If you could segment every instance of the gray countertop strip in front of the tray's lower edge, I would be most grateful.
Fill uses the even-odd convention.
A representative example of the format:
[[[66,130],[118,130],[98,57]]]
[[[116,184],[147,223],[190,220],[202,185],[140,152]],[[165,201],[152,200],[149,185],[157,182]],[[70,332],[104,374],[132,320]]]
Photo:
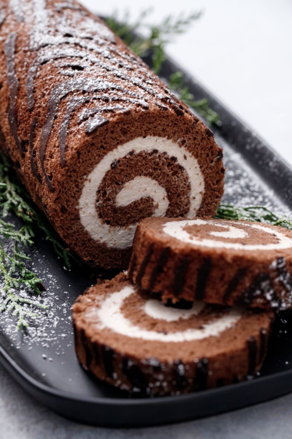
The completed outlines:
[[[28,396],[0,366],[0,438],[190,439],[292,437],[292,395],[219,416],[151,428],[100,428],[63,419]]]

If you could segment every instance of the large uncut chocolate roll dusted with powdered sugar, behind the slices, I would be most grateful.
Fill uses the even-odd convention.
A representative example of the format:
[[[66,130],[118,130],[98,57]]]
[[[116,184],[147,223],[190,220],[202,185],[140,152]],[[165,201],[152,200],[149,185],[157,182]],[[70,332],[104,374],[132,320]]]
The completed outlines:
[[[3,0],[0,145],[68,246],[126,266],[139,220],[213,215],[212,132],[75,1]]]

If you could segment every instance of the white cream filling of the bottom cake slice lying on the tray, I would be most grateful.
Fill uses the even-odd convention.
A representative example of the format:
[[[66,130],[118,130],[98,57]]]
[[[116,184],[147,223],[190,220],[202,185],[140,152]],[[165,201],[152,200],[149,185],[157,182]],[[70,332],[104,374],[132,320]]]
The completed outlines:
[[[155,330],[146,330],[134,325],[129,319],[121,313],[123,301],[135,292],[133,286],[126,286],[121,291],[108,296],[100,308],[96,311],[96,324],[99,329],[108,328],[111,331],[134,339],[143,339],[151,341],[164,342],[183,342],[192,340],[201,340],[211,336],[219,336],[226,329],[234,326],[241,318],[241,312],[237,309],[229,310],[223,317],[214,319],[209,323],[202,325],[201,329],[186,329],[185,331],[169,332],[167,334]],[[150,305],[148,302],[151,302]],[[143,310],[150,317],[155,319],[163,319],[166,321],[177,321],[179,319],[187,319],[192,315],[197,315],[205,306],[201,302],[195,303],[190,310],[169,310],[158,301],[157,305],[153,304],[153,300],[146,301]],[[92,313],[92,311],[91,311]],[[92,321],[92,315],[90,320]]]

